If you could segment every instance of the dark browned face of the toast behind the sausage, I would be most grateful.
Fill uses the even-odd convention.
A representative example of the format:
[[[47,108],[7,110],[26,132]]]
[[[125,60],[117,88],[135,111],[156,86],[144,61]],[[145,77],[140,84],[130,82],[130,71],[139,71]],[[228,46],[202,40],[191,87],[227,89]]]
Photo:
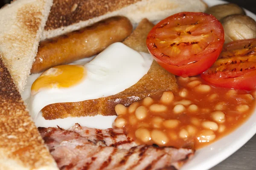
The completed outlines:
[[[70,26],[139,1],[141,0],[54,0],[44,29],[48,31]]]

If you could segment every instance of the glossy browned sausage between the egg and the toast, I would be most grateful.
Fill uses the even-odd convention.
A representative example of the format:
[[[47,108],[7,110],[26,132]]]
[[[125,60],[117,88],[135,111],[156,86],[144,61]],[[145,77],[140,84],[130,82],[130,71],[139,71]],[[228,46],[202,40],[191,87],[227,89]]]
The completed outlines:
[[[131,34],[126,17],[111,17],[59,37],[40,42],[31,73],[40,73],[57,65],[100,53],[114,42],[122,42]]]

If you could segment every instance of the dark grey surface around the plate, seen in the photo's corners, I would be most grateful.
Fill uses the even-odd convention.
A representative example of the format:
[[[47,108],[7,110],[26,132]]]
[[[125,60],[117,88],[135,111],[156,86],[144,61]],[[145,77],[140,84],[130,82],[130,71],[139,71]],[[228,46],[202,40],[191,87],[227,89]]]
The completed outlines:
[[[256,0],[226,0],[256,14]],[[0,0],[0,6],[10,0]],[[256,170],[256,135],[244,144],[236,153],[210,170]]]

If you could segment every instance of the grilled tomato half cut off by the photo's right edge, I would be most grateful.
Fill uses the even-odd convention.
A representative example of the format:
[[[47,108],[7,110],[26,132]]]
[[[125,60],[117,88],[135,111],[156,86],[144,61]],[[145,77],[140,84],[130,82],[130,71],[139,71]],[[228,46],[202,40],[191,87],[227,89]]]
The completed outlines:
[[[225,44],[217,61],[201,77],[225,88],[256,89],[256,39]]]

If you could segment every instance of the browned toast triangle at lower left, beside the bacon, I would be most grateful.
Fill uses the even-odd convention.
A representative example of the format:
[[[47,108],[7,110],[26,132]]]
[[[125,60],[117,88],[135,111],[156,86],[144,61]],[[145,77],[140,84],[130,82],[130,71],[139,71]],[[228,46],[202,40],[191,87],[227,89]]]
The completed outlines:
[[[58,170],[0,56],[0,170]]]

